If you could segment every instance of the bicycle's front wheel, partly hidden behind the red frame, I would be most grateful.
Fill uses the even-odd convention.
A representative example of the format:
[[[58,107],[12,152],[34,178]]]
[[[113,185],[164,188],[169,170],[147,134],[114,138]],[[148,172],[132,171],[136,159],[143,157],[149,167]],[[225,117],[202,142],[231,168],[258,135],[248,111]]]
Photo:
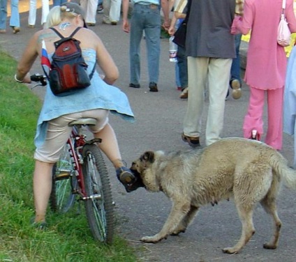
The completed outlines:
[[[54,212],[66,213],[75,202],[73,189],[77,187],[77,179],[73,169],[68,144],[64,146],[59,161],[52,169],[52,192],[50,208]]]

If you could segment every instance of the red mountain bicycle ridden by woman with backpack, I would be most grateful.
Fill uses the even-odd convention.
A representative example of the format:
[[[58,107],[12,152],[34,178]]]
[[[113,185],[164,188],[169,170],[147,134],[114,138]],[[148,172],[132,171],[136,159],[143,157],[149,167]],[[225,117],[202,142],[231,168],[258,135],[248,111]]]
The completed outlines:
[[[31,81],[46,85],[43,75],[31,75]],[[35,87],[34,86],[34,87]],[[34,88],[33,87],[33,88]],[[112,243],[114,203],[108,170],[101,150],[101,139],[87,140],[82,128],[96,125],[94,118],[81,118],[69,124],[72,132],[57,163],[52,169],[50,208],[66,213],[75,201],[84,202],[87,221],[94,239]]]

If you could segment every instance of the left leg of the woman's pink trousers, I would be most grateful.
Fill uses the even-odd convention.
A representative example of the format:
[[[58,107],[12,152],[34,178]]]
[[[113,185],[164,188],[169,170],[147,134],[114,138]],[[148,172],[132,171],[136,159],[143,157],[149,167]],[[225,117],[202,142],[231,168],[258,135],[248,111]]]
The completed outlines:
[[[257,130],[258,134],[263,133],[263,106],[265,91],[250,86],[249,107],[244,117],[244,137],[250,138],[252,130]]]

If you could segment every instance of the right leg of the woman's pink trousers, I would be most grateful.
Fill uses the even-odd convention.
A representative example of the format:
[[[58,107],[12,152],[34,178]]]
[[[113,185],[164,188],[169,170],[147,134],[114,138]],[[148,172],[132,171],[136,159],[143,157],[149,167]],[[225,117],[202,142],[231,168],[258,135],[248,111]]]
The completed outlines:
[[[267,91],[268,129],[265,143],[281,150],[283,141],[283,88]]]

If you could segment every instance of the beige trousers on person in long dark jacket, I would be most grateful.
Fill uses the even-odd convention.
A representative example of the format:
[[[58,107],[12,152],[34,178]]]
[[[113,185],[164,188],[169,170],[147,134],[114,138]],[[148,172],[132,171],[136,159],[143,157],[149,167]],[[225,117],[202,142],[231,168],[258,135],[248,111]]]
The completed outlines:
[[[200,137],[205,91],[208,88],[209,110],[205,144],[209,146],[221,137],[225,97],[230,81],[232,59],[188,56],[188,105],[184,118],[184,134]]]

